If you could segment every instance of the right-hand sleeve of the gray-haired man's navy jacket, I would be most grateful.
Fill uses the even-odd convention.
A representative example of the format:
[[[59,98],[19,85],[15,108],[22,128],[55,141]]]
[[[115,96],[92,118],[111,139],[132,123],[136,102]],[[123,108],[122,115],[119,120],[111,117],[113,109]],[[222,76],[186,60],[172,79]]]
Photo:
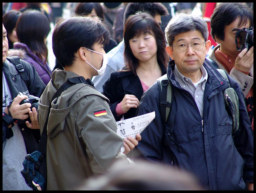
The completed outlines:
[[[239,98],[239,129],[233,134],[234,144],[244,160],[243,179],[253,183],[253,131],[241,87],[229,76],[230,85]]]

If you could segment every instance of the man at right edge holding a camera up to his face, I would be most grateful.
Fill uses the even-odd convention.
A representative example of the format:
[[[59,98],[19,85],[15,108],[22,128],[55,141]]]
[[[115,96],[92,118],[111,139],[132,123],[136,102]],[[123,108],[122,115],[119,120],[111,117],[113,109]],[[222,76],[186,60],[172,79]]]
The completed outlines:
[[[209,58],[241,86],[253,130],[253,10],[245,3],[221,3],[210,26],[219,44]]]

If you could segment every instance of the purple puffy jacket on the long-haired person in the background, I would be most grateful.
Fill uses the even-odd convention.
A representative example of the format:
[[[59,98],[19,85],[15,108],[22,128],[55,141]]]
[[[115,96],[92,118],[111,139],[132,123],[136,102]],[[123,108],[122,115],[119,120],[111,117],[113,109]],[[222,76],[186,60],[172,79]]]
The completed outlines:
[[[45,83],[45,85],[47,85],[48,82],[51,80],[51,74],[52,74],[52,71],[51,71],[48,63],[44,64],[38,58],[38,56],[36,56],[28,48],[28,46],[26,44],[24,44],[24,43],[16,42],[16,43],[13,44],[13,47],[14,47],[14,49],[22,49],[23,51],[26,52],[25,57],[21,58],[21,59],[23,59],[26,62],[28,62],[28,63],[32,64],[33,66],[35,66],[38,75],[40,76],[42,81]]]

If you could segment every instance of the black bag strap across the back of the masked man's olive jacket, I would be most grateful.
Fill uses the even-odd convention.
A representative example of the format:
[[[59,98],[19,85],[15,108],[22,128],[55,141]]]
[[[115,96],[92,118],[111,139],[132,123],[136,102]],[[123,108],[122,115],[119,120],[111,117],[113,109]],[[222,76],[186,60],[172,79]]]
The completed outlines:
[[[90,79],[87,79],[87,81],[89,81]],[[51,103],[52,101],[57,98],[64,90],[66,90],[67,88],[78,84],[78,83],[84,83],[84,84],[88,84],[84,77],[79,76],[79,77],[75,77],[75,78],[68,78],[68,81],[66,81],[54,94],[54,96],[51,99],[50,105],[49,105],[49,109],[48,109],[48,114],[46,117],[46,121],[45,121],[45,125],[44,125],[44,129],[42,131],[41,134],[41,138],[40,138],[40,142],[38,144],[38,151],[40,151],[43,155],[46,155],[46,145],[47,145],[47,124],[48,124],[48,120],[49,120],[49,115],[50,115],[50,111],[51,111]],[[88,84],[90,85],[90,83]]]

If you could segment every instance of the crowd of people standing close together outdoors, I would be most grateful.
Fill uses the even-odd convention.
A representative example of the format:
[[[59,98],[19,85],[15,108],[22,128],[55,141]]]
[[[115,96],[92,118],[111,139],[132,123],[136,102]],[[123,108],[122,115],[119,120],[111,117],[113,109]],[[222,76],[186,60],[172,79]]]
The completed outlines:
[[[46,120],[47,190],[253,190],[253,3],[209,4],[3,3],[3,190],[32,190],[20,171]],[[136,137],[117,134],[153,111]]]

